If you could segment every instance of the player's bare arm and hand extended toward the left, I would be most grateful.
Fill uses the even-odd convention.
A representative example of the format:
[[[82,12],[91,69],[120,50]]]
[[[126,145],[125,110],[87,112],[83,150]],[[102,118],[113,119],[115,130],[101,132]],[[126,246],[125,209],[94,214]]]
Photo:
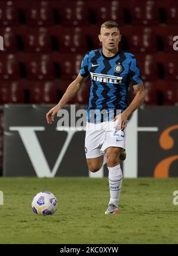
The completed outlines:
[[[82,83],[84,83],[86,79],[87,77],[82,77],[80,74],[78,74],[77,78],[66,89],[66,92],[62,96],[62,99],[59,101],[59,103],[55,107],[51,108],[46,114],[46,120],[48,124],[51,124],[52,121],[54,121],[55,114],[61,110],[63,105],[74,98],[74,96],[81,89]]]

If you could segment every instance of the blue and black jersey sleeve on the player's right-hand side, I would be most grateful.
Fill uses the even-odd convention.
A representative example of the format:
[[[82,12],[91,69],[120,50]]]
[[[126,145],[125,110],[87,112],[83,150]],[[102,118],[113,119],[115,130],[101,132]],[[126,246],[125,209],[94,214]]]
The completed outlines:
[[[131,60],[132,61],[129,67],[129,78],[132,85],[138,85],[139,83],[142,83],[140,68],[135,56],[132,56]]]

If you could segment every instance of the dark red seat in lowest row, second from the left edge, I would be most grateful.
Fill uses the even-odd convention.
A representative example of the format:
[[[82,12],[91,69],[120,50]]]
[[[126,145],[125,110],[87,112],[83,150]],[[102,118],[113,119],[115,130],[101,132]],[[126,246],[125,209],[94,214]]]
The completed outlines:
[[[55,83],[52,81],[46,82],[31,82],[30,89],[31,104],[56,104],[57,93]]]

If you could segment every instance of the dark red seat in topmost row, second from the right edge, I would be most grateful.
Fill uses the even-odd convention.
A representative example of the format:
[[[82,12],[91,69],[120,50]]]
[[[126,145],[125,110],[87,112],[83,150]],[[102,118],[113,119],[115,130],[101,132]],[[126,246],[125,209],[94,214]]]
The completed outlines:
[[[131,0],[129,6],[132,17],[132,24],[158,24],[159,12],[155,1]]]

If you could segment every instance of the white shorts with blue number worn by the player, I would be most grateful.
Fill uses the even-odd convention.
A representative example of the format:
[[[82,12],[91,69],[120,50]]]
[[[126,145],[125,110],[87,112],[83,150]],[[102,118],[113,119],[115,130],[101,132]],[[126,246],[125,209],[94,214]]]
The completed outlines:
[[[103,123],[87,123],[85,135],[86,158],[104,155],[109,146],[125,149],[126,129],[116,130],[116,121]]]

